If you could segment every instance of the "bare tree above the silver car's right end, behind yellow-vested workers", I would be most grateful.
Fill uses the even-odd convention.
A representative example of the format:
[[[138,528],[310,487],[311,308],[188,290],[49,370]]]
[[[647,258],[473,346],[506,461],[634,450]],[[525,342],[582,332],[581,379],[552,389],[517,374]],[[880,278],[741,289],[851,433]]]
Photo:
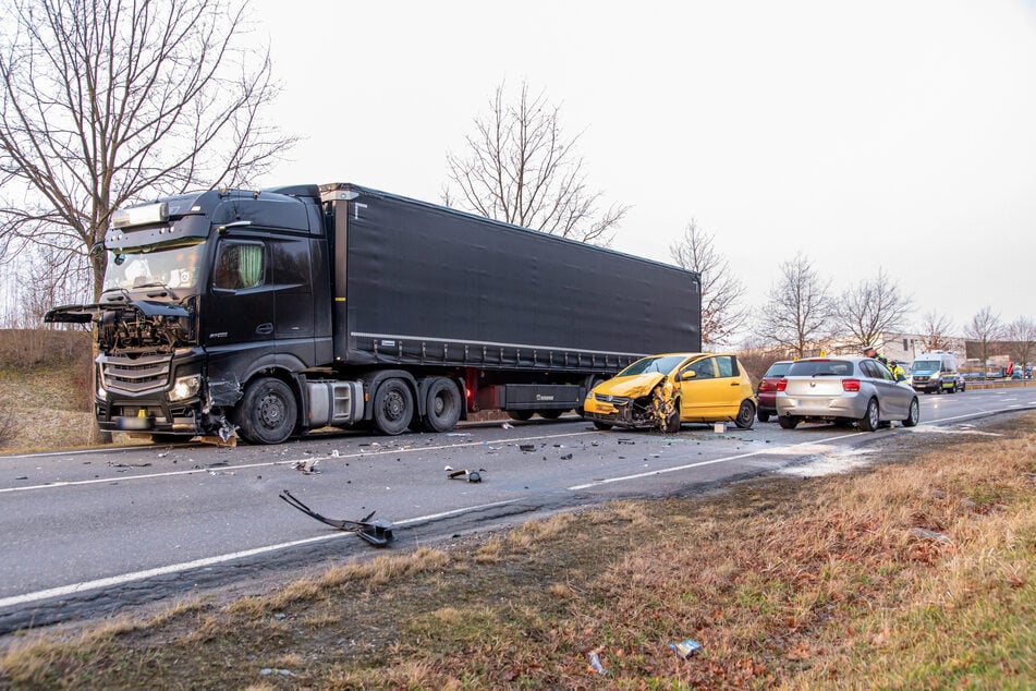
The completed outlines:
[[[912,308],[913,300],[900,291],[883,269],[878,269],[876,277],[862,280],[841,294],[836,324],[840,332],[856,341],[855,346],[877,346],[885,334],[902,331]]]

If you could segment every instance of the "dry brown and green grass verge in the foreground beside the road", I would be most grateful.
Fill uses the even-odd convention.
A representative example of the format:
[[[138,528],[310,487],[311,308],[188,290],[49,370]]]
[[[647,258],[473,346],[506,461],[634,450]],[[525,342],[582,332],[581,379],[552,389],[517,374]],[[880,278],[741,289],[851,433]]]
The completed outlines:
[[[16,644],[0,687],[1028,687],[1036,415],[1014,420],[994,440],[901,436],[853,476],[617,502]],[[703,645],[687,660],[668,648],[685,638]]]

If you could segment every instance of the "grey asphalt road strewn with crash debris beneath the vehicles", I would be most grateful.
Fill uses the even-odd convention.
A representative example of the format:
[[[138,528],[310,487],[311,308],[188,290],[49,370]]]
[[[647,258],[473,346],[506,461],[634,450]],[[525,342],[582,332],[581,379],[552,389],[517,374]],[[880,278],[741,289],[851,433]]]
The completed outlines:
[[[685,495],[746,476],[852,462],[901,434],[968,432],[1036,409],[1036,389],[922,396],[922,424],[858,433],[598,432],[576,417],[449,434],[343,433],[276,446],[145,446],[0,457],[0,633],[222,587],[376,549],[282,501],[391,521],[391,549],[615,498]],[[316,462],[316,472],[298,464]],[[447,477],[477,471],[480,483]]]

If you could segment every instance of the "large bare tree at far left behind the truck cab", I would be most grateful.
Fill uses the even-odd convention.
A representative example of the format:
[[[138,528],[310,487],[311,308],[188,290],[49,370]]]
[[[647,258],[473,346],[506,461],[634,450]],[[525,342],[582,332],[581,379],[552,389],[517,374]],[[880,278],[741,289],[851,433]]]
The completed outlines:
[[[127,201],[245,183],[293,143],[239,0],[13,0],[0,29],[0,250],[87,265]]]

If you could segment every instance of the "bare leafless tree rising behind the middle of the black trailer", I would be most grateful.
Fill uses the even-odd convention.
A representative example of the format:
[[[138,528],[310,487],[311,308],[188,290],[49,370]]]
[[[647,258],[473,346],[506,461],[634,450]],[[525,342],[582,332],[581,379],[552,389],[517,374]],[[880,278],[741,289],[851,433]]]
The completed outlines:
[[[447,154],[450,183],[442,201],[487,218],[563,238],[607,245],[629,206],[598,214],[600,192],[586,185],[578,136],[565,138],[560,108],[531,97],[523,82],[516,102],[501,83],[489,114],[475,118],[464,155]]]

